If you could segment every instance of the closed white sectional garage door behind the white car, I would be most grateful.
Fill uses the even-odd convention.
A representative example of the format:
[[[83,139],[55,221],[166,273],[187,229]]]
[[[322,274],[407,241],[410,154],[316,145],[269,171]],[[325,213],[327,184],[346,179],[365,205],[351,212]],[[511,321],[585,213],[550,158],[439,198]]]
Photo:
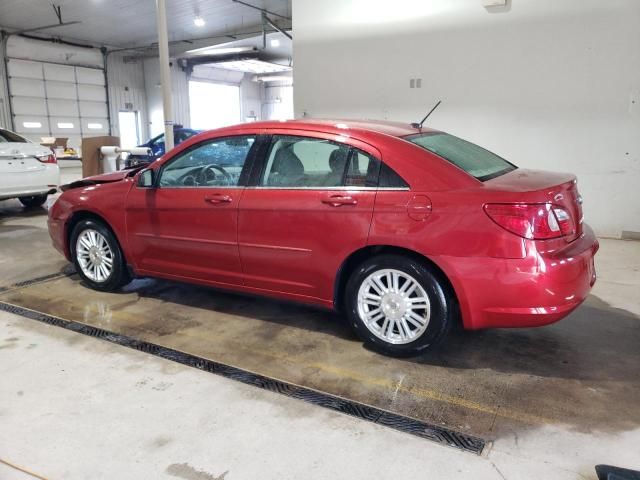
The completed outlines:
[[[16,132],[36,142],[47,136],[68,137],[74,147],[83,136],[109,133],[102,68],[11,58],[8,53]]]

